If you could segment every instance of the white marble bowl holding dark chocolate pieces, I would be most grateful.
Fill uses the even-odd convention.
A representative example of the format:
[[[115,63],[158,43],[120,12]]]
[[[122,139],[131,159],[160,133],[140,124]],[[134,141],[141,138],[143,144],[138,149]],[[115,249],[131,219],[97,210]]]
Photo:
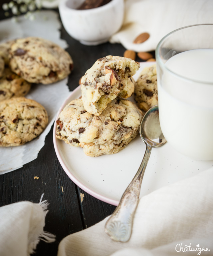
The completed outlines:
[[[87,10],[77,10],[84,0],[60,0],[59,13],[68,34],[82,44],[98,45],[107,42],[123,22],[123,0]]]

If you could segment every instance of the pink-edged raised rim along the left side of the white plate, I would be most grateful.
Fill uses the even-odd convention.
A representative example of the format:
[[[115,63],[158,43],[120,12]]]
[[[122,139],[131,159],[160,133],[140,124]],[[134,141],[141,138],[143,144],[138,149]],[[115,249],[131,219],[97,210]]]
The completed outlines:
[[[56,120],[58,119],[58,116],[59,114],[61,113],[61,111],[63,110],[63,108],[69,103],[69,99],[75,94],[77,93],[79,90],[80,90],[80,87],[81,85],[79,85],[70,95],[69,97],[64,101],[64,103],[62,104],[62,106],[60,107],[57,115],[56,115],[56,119],[55,119],[55,122]],[[56,155],[58,157],[58,160],[62,166],[62,168],[64,169],[64,171],[66,172],[66,174],[68,175],[68,177],[76,184],[78,185],[80,188],[82,188],[85,192],[87,192],[88,194],[94,196],[95,198],[101,200],[101,201],[104,201],[106,203],[109,203],[109,204],[112,204],[112,205],[115,205],[117,206],[118,205],[118,201],[117,200],[114,200],[114,199],[111,199],[111,198],[108,198],[106,196],[103,196],[99,193],[97,193],[96,191],[92,190],[91,188],[89,188],[88,186],[86,186],[84,183],[82,183],[79,179],[77,179],[73,173],[71,172],[71,170],[69,170],[69,168],[67,167],[67,165],[65,164],[60,152],[59,152],[59,148],[58,148],[58,144],[57,144],[57,138],[56,138],[56,125],[55,125],[55,122],[54,122],[54,127],[53,127],[53,144],[54,144],[54,148],[55,148],[55,151],[56,151]]]

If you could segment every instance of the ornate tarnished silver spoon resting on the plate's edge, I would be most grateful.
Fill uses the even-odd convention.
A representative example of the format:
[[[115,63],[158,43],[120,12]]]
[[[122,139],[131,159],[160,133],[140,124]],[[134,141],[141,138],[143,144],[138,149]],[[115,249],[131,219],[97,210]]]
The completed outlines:
[[[143,116],[140,124],[140,136],[146,144],[143,160],[133,180],[123,193],[118,206],[105,224],[105,232],[114,241],[127,242],[129,240],[140,187],[151,149],[166,142],[160,128],[158,105],[149,109]]]

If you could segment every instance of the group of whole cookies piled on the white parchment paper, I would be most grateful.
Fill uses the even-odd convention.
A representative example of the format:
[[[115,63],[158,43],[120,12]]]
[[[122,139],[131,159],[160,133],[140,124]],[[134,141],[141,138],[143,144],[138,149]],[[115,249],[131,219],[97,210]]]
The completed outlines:
[[[0,146],[18,146],[47,126],[45,108],[24,96],[31,84],[51,84],[73,69],[70,55],[55,43],[36,37],[0,45]]]

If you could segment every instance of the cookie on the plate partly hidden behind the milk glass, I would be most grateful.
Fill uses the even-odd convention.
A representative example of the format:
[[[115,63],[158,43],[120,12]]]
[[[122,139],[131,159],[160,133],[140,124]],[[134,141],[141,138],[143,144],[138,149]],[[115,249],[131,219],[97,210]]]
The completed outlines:
[[[158,104],[156,65],[146,67],[140,73],[135,82],[134,99],[143,111]]]

